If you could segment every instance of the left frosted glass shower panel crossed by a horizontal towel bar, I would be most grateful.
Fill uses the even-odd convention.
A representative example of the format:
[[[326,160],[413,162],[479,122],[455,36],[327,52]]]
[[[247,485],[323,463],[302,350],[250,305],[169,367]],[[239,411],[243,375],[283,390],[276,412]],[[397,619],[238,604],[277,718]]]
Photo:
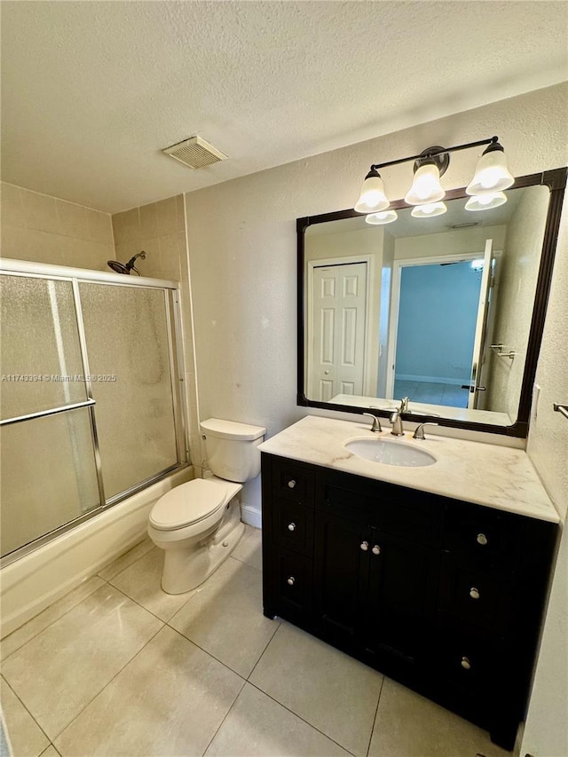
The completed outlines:
[[[2,275],[2,556],[101,506],[73,285]]]

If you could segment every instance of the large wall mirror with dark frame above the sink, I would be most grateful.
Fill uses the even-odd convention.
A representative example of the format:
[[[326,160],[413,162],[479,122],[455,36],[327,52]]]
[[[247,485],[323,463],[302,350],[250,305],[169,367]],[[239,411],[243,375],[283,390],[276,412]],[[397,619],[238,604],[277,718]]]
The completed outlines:
[[[298,405],[525,437],[566,169],[517,178],[507,202],[369,225],[297,220]]]

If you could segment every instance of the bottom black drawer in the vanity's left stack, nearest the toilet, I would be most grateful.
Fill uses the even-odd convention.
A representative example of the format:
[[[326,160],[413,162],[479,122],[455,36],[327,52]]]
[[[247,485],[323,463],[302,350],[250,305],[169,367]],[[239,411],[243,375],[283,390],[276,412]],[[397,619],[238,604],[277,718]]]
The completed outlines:
[[[307,618],[312,611],[312,560],[280,550],[274,556],[272,591],[282,618]]]

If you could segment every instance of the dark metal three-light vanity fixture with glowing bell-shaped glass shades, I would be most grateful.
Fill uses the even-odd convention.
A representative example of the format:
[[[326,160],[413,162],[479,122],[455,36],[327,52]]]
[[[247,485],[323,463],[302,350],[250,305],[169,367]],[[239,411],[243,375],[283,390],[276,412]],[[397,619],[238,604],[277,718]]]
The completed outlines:
[[[412,186],[405,196],[405,202],[408,205],[415,205],[412,212],[414,217],[433,217],[439,216],[446,212],[446,206],[440,202],[446,192],[440,184],[440,177],[444,176],[450,163],[450,153],[458,150],[468,150],[472,147],[486,145],[484,153],[477,162],[477,168],[474,177],[469,182],[466,193],[472,195],[471,201],[468,201],[466,209],[481,210],[496,208],[507,198],[502,194],[503,189],[507,189],[515,183],[515,178],[509,173],[507,160],[498,137],[489,139],[480,139],[478,142],[469,142],[465,145],[456,145],[454,147],[432,146],[423,150],[419,155],[410,155],[407,158],[400,158],[397,161],[388,161],[385,163],[374,163],[371,167],[359,194],[359,200],[355,205],[355,211],[365,214],[380,214],[390,207],[390,201],[385,193],[383,179],[379,174],[379,169],[387,166],[394,166],[400,163],[414,161],[414,180]],[[485,194],[491,194],[491,201],[480,201],[479,198]],[[430,206],[430,212],[419,212],[418,208]],[[432,212],[432,207],[435,212]],[[394,220],[390,217],[375,218],[369,220],[369,224],[385,224]]]

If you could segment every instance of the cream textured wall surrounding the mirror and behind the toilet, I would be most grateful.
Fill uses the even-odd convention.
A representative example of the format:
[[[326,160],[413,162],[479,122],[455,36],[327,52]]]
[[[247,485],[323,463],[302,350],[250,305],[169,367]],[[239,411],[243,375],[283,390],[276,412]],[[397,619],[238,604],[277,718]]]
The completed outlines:
[[[187,194],[201,415],[260,423],[272,435],[305,414],[296,406],[296,217],[352,207],[372,162],[417,154],[430,145],[497,134],[513,174],[564,166],[567,110],[568,83],[563,83]],[[473,151],[454,154],[444,185],[466,185],[474,164]],[[394,198],[404,196],[408,166],[384,171],[383,179]],[[553,414],[551,403],[568,401],[567,242],[564,233],[540,354],[539,414],[529,440],[543,483],[563,512],[568,422]],[[243,498],[259,507],[257,481],[245,488]],[[556,657],[558,674],[565,670],[568,639],[557,597],[566,594],[567,584],[564,572],[548,608],[541,654],[542,665]],[[562,745],[552,743],[555,733],[532,714],[545,710],[565,722],[566,701],[547,685],[546,669],[537,675],[533,705],[526,732],[536,757],[548,757]]]

